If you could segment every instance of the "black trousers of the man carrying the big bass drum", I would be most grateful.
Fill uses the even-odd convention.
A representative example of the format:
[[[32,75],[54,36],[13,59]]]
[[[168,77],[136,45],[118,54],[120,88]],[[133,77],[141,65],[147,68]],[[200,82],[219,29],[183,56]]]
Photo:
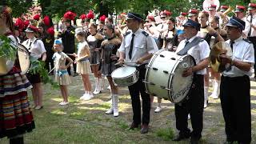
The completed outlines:
[[[188,99],[181,103],[175,104],[175,117],[176,117],[176,128],[179,130],[180,135],[190,134],[188,128],[187,117],[190,114],[191,124],[193,131],[191,137],[201,138],[202,137],[202,116],[203,116],[203,102],[204,102],[204,78],[203,75],[194,75],[194,84],[190,89]]]

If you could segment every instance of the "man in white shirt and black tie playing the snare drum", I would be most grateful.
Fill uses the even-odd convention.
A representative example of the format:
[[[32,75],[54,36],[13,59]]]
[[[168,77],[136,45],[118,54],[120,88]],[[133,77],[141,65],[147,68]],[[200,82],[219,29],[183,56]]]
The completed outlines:
[[[139,14],[129,13],[126,18],[127,26],[130,29],[124,35],[122,44],[119,48],[120,58],[118,62],[135,62],[139,71],[138,82],[132,86],[128,86],[133,107],[133,122],[130,130],[141,127],[141,104],[139,95],[142,96],[142,134],[146,134],[149,130],[150,123],[150,94],[146,94],[145,85],[142,79],[146,74],[146,63],[149,62],[152,54],[158,51],[158,46],[154,42],[154,38],[144,30],[140,29],[140,23],[143,21]]]

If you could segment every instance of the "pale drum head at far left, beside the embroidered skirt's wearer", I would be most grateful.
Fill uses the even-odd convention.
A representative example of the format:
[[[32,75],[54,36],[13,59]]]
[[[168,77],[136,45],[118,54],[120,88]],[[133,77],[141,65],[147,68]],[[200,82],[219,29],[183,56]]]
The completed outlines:
[[[18,62],[22,70],[21,74],[26,74],[30,68],[30,54],[25,46],[18,44]]]

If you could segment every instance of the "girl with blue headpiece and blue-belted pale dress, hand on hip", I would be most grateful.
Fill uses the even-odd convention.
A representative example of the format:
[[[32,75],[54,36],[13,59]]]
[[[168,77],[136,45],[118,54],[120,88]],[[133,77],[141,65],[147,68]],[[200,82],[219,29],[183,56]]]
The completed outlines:
[[[69,104],[67,86],[71,83],[70,76],[66,69],[73,63],[73,60],[62,52],[62,40],[56,39],[54,41],[54,50],[56,50],[53,56],[56,70],[55,81],[58,82],[58,84],[60,85],[63,97],[63,101],[60,102],[58,105],[65,106]],[[69,61],[67,65],[66,60]]]

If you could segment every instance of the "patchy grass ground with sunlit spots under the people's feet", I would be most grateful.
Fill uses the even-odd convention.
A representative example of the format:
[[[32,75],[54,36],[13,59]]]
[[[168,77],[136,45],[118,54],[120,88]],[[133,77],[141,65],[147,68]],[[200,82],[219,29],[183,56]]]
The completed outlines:
[[[92,81],[94,79],[92,78]],[[94,83],[94,82],[92,82]],[[107,83],[107,82],[106,82]],[[253,142],[256,138],[256,86],[252,82],[252,134]],[[106,85],[107,86],[107,85]],[[73,78],[69,86],[69,106],[58,106],[62,101],[60,91],[44,86],[44,107],[42,110],[33,110],[36,129],[25,135],[26,144],[51,144],[51,143],[188,143],[172,142],[171,138],[177,134],[175,129],[174,104],[163,101],[163,110],[154,113],[157,98],[151,109],[150,132],[140,134],[139,130],[128,130],[132,122],[130,95],[126,88],[120,90],[119,117],[105,114],[110,108],[107,101],[110,91],[103,90],[90,101],[80,101],[82,81],[80,77]],[[30,100],[31,94],[30,94]],[[190,122],[189,122],[190,123]],[[222,143],[225,141],[224,120],[220,102],[210,98],[209,107],[204,112],[204,129],[201,143]],[[190,126],[191,127],[191,126]],[[7,138],[2,138],[0,143],[8,143]]]

